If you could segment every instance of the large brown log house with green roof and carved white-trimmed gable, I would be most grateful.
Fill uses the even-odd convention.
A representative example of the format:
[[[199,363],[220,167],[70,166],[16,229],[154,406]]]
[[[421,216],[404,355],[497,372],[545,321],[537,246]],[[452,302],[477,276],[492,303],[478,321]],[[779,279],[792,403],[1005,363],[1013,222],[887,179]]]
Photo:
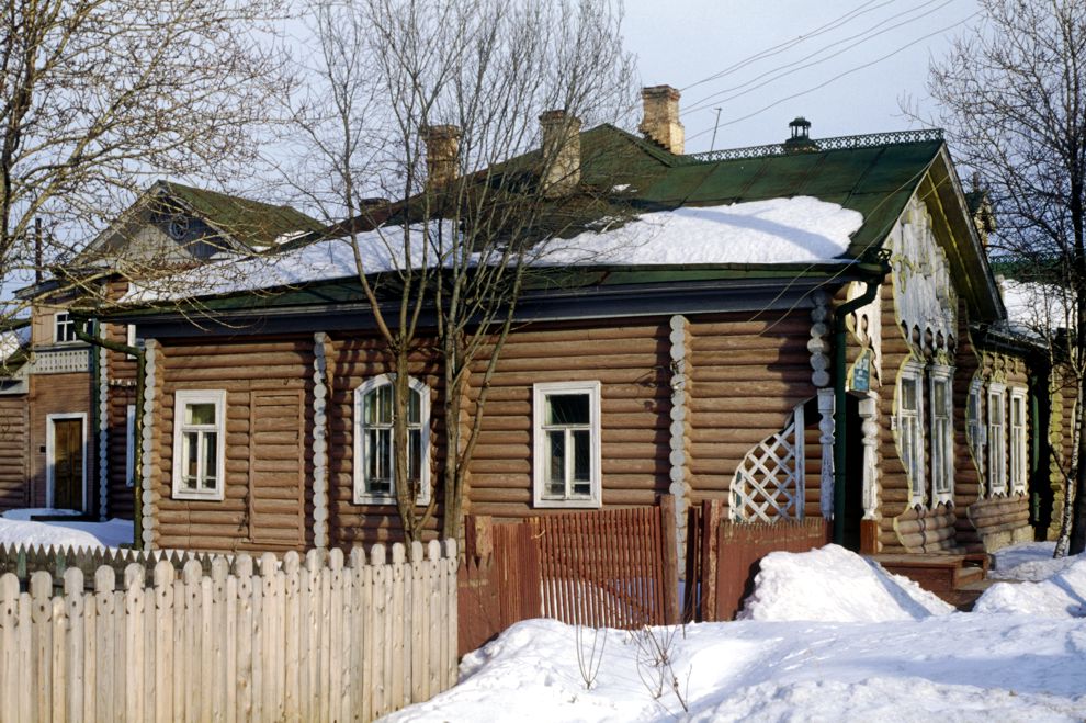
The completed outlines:
[[[646,89],[647,139],[608,125],[579,134],[580,188],[642,216],[573,239],[552,259],[573,273],[525,293],[467,511],[516,519],[671,493],[680,536],[704,499],[740,521],[830,517],[844,433],[849,546],[1032,539],[1030,440],[1043,422],[1029,380],[1043,370],[987,331],[1006,312],[941,134],[814,140],[797,118],[782,145],[687,156],[677,103],[672,89]],[[214,328],[193,326],[188,304],[124,319],[147,349],[145,545],[399,535],[382,463],[388,360],[350,252],[327,239],[280,263],[212,282],[200,303]],[[410,373],[412,459],[437,479],[441,370],[422,355]]]

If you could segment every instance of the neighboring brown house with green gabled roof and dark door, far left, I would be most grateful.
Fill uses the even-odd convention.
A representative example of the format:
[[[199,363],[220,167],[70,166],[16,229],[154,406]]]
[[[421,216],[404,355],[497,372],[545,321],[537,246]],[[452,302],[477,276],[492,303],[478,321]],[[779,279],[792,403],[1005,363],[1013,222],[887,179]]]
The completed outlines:
[[[159,181],[54,278],[20,291],[31,305],[29,335],[18,369],[0,379],[0,405],[5,422],[21,415],[24,428],[20,441],[0,441],[0,509],[132,516],[136,357],[81,340],[77,316],[109,308],[133,280],[224,255],[273,252],[319,227],[292,208]],[[128,347],[142,343],[131,326],[91,320],[86,328]]]

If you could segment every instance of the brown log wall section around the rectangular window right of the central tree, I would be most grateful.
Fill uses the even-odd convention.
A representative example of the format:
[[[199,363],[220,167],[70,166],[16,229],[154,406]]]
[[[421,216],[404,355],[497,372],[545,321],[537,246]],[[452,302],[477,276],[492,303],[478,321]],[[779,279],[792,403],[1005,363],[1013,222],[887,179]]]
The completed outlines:
[[[669,334],[660,317],[511,335],[484,410],[465,512],[499,521],[547,513],[532,507],[532,385],[543,382],[600,382],[603,506],[655,504],[669,484]]]

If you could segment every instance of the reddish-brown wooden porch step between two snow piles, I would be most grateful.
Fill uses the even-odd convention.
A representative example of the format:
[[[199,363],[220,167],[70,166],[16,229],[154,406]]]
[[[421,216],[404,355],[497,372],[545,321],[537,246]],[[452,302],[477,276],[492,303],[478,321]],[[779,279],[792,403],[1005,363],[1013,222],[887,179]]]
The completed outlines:
[[[937,595],[959,610],[969,610],[983,587],[989,557],[985,553],[919,553],[868,555],[886,572],[904,575],[925,590]]]

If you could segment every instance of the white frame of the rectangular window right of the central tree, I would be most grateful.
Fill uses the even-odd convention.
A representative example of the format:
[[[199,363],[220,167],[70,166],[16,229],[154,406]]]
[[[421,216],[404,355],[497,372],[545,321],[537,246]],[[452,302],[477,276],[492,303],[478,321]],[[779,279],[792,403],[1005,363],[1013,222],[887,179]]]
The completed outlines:
[[[600,382],[547,382],[532,385],[532,501],[540,508],[600,508],[602,493],[602,453],[600,444]],[[574,496],[568,492],[570,481],[566,473],[567,493],[555,497],[546,493],[546,432],[544,423],[546,398],[558,394],[584,394],[588,396],[589,414],[589,494]],[[573,455],[567,459],[572,460]]]

